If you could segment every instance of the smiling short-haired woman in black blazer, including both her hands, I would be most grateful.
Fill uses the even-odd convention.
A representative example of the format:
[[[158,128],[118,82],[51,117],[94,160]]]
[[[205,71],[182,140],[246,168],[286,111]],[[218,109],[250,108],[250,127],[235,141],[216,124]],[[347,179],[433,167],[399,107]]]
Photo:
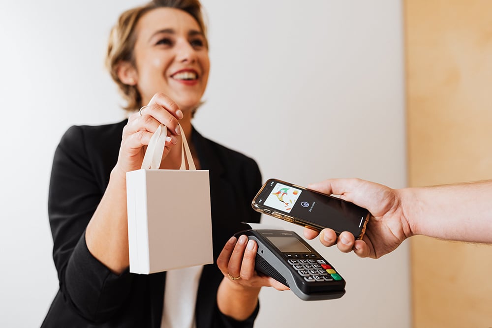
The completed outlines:
[[[72,126],[56,150],[49,215],[60,290],[42,327],[251,327],[260,288],[286,289],[255,273],[254,241],[230,237],[240,222],[259,221],[249,205],[261,186],[258,166],[191,125],[210,69],[205,33],[197,0],[153,1],[123,13],[113,29],[106,61],[132,114]],[[216,264],[132,274],[125,175],[140,168],[161,123],[169,131],[161,169],[179,168],[178,122],[195,165],[210,171]]]

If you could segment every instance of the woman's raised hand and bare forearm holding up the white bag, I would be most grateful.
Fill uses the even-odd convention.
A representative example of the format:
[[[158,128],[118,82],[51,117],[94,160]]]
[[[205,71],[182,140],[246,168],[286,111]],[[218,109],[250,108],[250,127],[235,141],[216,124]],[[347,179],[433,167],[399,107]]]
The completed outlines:
[[[115,274],[129,266],[126,172],[140,169],[146,146],[160,124],[166,125],[170,134],[164,149],[167,155],[178,143],[178,119],[182,118],[183,113],[174,101],[163,93],[156,93],[144,109],[130,116],[123,128],[118,162],[85,235],[91,254]]]

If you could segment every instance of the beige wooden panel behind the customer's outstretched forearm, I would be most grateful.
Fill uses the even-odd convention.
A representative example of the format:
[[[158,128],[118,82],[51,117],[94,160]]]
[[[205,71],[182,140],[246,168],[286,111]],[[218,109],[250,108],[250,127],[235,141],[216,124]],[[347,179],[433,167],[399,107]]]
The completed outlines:
[[[405,0],[404,21],[409,185],[492,179],[492,1]],[[492,327],[492,246],[419,236],[411,261],[414,327]]]

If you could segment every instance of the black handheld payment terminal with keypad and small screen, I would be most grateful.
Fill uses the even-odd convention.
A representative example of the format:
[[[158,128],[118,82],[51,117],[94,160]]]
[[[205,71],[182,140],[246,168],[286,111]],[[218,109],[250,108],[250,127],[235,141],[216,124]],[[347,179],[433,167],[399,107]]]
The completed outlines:
[[[345,280],[337,270],[293,231],[244,230],[258,244],[255,270],[288,286],[304,300],[341,298]]]

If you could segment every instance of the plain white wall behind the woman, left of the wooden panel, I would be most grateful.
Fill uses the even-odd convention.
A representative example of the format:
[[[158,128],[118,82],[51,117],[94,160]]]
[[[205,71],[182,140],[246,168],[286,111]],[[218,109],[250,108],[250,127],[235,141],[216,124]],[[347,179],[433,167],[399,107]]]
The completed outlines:
[[[57,291],[47,218],[54,149],[72,124],[123,118],[108,31],[136,0],[0,3],[0,326],[36,327]],[[194,124],[263,178],[405,185],[400,1],[204,0],[212,72]],[[302,234],[302,229],[264,218]],[[346,279],[338,300],[264,289],[256,327],[409,327],[404,244],[380,260],[311,244]]]

